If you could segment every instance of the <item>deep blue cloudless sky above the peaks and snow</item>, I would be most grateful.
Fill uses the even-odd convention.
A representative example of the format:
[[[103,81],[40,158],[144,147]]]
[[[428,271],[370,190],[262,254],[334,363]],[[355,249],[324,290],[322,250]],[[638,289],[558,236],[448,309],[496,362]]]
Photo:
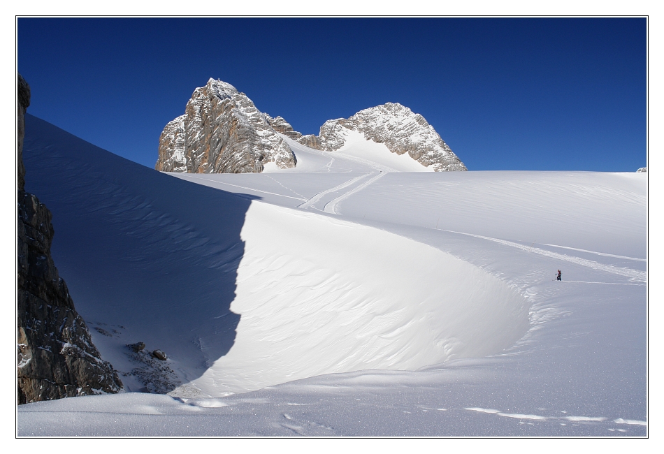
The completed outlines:
[[[145,166],[221,79],[301,133],[398,102],[470,170],[646,166],[644,18],[20,18],[28,112]]]

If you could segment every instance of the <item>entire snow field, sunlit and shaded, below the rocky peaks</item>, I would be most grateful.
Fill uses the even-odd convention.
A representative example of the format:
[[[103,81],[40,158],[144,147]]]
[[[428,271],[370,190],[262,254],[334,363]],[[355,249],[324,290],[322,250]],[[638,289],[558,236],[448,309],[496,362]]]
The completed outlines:
[[[350,140],[171,175],[26,122],[127,393],[22,405],[20,437],[647,435],[647,174],[416,172]]]

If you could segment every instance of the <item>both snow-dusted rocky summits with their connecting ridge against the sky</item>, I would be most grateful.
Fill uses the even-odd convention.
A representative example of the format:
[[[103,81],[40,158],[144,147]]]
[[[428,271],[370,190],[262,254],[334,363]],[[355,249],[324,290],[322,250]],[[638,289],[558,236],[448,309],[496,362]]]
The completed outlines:
[[[368,149],[384,145],[386,156],[389,152],[399,156],[407,153],[424,168],[438,172],[468,170],[424,117],[399,103],[361,110],[347,119],[328,120],[319,136],[303,136],[282,117],[260,112],[245,94],[214,79],[197,88],[185,115],[164,128],[155,168],[186,173],[259,173],[270,162],[281,169],[294,168],[295,150],[280,134],[324,152],[340,151],[359,135],[369,142]]]

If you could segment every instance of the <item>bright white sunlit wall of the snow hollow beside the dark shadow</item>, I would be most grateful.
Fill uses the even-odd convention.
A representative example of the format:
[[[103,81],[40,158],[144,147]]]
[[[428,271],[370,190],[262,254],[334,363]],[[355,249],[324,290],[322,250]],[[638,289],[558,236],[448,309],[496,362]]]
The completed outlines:
[[[240,235],[238,336],[193,383],[207,395],[486,356],[528,329],[503,281],[393,233],[252,203]]]

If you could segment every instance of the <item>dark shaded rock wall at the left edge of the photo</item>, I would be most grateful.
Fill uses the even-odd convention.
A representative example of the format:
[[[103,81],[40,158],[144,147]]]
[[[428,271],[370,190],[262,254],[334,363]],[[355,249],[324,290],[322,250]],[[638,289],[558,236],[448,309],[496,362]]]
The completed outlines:
[[[19,76],[19,177],[24,114],[30,98],[26,87]],[[53,263],[51,213],[36,196],[22,189],[21,182],[17,193],[18,403],[117,393],[122,382],[110,363],[101,360]]]

